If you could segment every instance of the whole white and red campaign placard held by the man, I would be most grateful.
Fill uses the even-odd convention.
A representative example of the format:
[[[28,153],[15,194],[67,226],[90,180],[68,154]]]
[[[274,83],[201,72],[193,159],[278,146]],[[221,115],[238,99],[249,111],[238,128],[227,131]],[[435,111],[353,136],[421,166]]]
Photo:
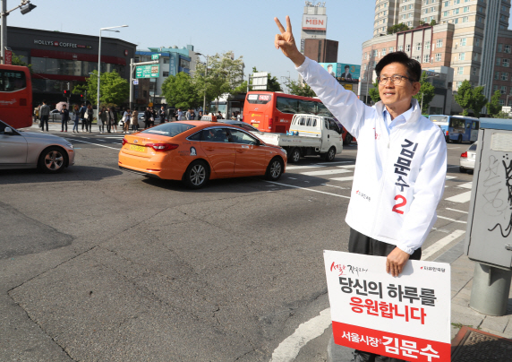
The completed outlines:
[[[450,265],[324,251],[335,343],[411,361],[450,360]]]

